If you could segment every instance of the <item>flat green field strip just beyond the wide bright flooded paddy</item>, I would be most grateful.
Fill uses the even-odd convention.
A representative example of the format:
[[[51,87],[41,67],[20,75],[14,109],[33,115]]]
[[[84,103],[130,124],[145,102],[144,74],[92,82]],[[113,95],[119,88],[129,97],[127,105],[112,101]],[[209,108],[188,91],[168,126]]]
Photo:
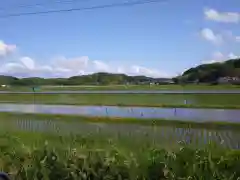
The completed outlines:
[[[184,100],[188,104],[184,105]],[[36,104],[240,108],[240,94],[35,94]],[[0,103],[33,104],[33,94],[0,94]]]

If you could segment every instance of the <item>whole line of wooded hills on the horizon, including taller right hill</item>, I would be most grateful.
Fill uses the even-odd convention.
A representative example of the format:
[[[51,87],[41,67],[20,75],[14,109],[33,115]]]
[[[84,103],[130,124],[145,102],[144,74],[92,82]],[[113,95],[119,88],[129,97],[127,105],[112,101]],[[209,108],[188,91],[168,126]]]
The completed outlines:
[[[42,86],[42,85],[111,85],[111,84],[175,84],[217,83],[221,77],[240,79],[240,59],[231,59],[222,63],[202,64],[185,71],[182,75],[169,78],[151,78],[146,76],[128,76],[125,74],[94,73],[69,78],[17,78],[0,76],[0,85]]]

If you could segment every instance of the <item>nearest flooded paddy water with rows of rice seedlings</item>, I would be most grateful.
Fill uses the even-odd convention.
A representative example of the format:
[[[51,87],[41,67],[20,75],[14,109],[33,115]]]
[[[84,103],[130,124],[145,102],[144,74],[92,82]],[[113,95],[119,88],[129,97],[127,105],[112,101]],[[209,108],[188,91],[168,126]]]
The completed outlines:
[[[4,127],[5,126],[5,127]],[[12,120],[8,127],[2,128],[31,131],[50,132],[57,134],[107,134],[109,137],[116,135],[131,136],[135,140],[148,139],[157,143],[186,143],[201,145],[213,141],[223,146],[239,149],[240,132],[232,130],[207,130],[188,129],[164,126],[141,126],[137,124],[107,124],[107,123],[86,123],[86,122],[64,122],[51,120]]]

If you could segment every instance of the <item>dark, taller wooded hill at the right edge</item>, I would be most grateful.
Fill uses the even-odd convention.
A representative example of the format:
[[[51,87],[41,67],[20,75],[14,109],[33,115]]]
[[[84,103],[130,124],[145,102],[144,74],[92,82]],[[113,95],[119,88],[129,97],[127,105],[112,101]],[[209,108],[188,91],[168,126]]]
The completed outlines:
[[[221,63],[202,64],[188,69],[178,79],[188,82],[214,82],[221,77],[240,78],[240,59],[231,59]]]

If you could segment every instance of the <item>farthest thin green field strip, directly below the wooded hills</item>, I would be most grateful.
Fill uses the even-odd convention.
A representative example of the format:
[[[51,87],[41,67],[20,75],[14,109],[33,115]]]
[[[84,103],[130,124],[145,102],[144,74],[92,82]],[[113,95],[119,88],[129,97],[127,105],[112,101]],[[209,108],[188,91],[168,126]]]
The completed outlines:
[[[42,86],[39,91],[79,90],[238,90],[240,85],[108,85],[108,86]],[[31,87],[0,88],[0,91],[32,91]]]

